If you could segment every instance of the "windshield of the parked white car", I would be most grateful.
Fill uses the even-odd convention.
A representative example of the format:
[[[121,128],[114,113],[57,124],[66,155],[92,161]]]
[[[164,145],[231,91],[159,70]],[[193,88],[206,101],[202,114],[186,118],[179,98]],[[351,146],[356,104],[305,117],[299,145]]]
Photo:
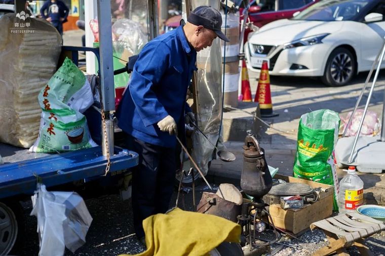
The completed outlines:
[[[370,0],[324,0],[300,12],[292,20],[355,20]]]

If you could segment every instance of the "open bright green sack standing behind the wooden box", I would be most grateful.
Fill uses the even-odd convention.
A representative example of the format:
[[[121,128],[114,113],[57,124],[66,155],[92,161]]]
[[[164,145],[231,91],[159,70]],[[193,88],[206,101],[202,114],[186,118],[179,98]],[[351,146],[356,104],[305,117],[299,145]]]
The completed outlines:
[[[334,185],[334,210],[337,207],[338,179],[333,148],[338,139],[339,116],[331,110],[317,110],[301,116],[298,127],[294,177]]]

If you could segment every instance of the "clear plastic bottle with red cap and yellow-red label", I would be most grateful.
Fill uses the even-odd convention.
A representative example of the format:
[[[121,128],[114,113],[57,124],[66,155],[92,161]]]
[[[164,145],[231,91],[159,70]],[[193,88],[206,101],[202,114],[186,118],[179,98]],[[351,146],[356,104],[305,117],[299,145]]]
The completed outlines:
[[[357,175],[356,167],[350,166],[348,174],[339,182],[339,213],[355,212],[364,199],[364,182]]]

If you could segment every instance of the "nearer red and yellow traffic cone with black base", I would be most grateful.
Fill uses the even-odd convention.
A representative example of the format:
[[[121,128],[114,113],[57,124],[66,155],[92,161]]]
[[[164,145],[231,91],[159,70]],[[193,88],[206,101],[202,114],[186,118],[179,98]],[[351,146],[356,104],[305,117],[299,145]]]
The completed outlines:
[[[261,117],[275,117],[279,115],[273,112],[272,94],[270,91],[270,76],[268,75],[267,61],[262,62],[254,102],[259,102]]]

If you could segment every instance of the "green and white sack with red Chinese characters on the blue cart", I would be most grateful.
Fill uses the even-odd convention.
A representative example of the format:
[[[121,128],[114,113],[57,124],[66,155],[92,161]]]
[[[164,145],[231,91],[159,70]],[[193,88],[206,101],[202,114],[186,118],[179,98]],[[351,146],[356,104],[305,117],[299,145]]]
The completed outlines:
[[[29,151],[55,153],[97,145],[82,114],[94,103],[91,86],[71,60],[64,60],[37,99],[43,110],[40,132]]]

